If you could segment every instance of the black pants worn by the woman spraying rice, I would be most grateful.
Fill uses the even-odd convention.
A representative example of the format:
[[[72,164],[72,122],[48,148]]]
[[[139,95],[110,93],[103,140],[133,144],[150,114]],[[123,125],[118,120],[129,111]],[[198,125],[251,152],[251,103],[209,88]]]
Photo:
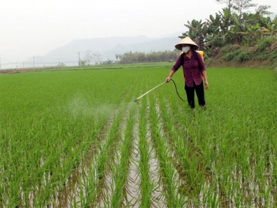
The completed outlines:
[[[200,85],[195,85],[195,82],[193,82],[193,87],[188,87],[185,84],[185,90],[186,97],[188,99],[188,105],[190,105],[191,108],[195,108],[195,92],[198,98],[198,104],[200,106],[206,105],[203,81]]]

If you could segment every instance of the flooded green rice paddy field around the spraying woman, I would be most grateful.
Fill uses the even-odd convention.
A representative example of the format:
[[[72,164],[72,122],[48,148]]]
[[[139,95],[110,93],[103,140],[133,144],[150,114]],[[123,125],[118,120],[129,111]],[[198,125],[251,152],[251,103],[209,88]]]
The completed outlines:
[[[274,71],[207,69],[206,110],[172,82],[133,102],[169,71],[1,75],[0,207],[276,207]]]

